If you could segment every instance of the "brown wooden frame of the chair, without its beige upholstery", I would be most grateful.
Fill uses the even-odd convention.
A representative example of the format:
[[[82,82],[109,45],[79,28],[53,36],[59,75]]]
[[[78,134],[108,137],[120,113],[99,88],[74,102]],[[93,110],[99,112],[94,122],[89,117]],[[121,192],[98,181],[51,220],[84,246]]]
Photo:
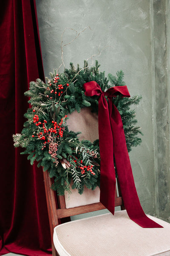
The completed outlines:
[[[50,224],[50,232],[51,232],[51,244],[52,244],[52,256],[59,255],[54,247],[53,242],[53,232],[54,227],[59,225],[59,219],[78,215],[87,212],[94,212],[101,209],[106,209],[100,202],[94,204],[88,204],[73,208],[65,208],[65,196],[58,196],[58,208],[56,203],[56,192],[51,189],[51,185],[53,180],[49,177],[48,171],[43,172],[44,183],[45,183],[45,195],[47,200],[47,207],[48,207],[48,218]],[[124,210],[124,204],[122,200],[122,194],[119,187],[119,180],[117,179],[118,191],[119,196],[117,195],[117,191],[115,192],[115,207],[120,206],[121,210]]]

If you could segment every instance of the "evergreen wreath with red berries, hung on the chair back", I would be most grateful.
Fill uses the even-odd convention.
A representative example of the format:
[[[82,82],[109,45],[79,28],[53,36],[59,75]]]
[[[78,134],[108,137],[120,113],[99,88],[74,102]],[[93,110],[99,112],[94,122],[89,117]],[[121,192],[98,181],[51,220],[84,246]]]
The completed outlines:
[[[82,108],[91,107],[98,113],[99,96],[85,96],[84,83],[96,81],[102,91],[125,85],[122,70],[116,76],[108,74],[106,78],[105,72],[99,73],[99,66],[96,61],[96,65],[89,68],[85,61],[81,69],[71,63],[70,69],[65,69],[64,73],[58,74],[57,70],[50,73],[47,84],[40,79],[31,81],[25,93],[30,98],[31,108],[25,114],[28,120],[23,131],[13,135],[14,146],[26,148],[21,154],[28,154],[31,165],[37,160],[38,167],[48,170],[50,177],[54,177],[52,189],[59,195],[64,195],[65,190],[70,192],[71,180],[72,189],[77,188],[80,194],[84,186],[89,189],[99,186],[99,140],[94,143],[79,141],[80,132],[69,131],[67,126],[67,115],[75,110],[80,112]],[[112,99],[122,117],[128,152],[142,142],[138,137],[142,132],[136,126],[136,113],[130,109],[131,105],[139,104],[140,99],[139,96]]]

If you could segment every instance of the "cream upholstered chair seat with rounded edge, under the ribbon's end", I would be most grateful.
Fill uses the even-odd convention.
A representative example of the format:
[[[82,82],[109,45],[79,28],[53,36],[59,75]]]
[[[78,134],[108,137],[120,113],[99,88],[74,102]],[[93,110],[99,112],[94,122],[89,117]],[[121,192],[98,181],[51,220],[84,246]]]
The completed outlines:
[[[170,224],[149,218],[164,228],[142,228],[126,210],[60,224],[54,245],[60,256],[170,256]]]

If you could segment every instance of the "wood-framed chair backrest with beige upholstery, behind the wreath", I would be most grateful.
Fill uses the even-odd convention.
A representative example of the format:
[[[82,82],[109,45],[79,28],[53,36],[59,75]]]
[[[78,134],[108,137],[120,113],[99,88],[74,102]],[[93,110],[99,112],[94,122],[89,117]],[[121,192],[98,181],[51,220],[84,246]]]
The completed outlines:
[[[98,117],[95,113],[91,113],[90,108],[82,109],[80,113],[76,111],[71,114],[71,118],[67,121],[70,131],[81,131],[79,139],[94,140],[99,138],[98,135]],[[45,182],[45,194],[48,206],[48,217],[51,230],[51,241],[53,255],[55,248],[53,244],[53,230],[59,224],[59,219],[68,216],[78,215],[87,212],[93,212],[105,207],[99,202],[100,190],[97,187],[94,191],[85,188],[82,195],[79,195],[77,189],[72,189],[71,194],[65,192],[64,196],[56,196],[56,193],[51,189],[53,180],[49,177],[48,171],[43,172]],[[122,201],[119,180],[117,179],[117,190],[115,192],[115,207],[121,206],[125,209]]]

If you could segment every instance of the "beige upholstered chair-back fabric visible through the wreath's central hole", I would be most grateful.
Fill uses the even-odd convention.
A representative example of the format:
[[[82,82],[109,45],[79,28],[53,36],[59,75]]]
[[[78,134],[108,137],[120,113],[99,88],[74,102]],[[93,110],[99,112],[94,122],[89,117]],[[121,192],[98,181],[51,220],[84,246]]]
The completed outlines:
[[[79,140],[94,140],[99,139],[98,131],[98,116],[96,113],[91,113],[91,108],[82,108],[80,113],[74,111],[68,114],[69,119],[67,125],[69,131],[81,131]]]

